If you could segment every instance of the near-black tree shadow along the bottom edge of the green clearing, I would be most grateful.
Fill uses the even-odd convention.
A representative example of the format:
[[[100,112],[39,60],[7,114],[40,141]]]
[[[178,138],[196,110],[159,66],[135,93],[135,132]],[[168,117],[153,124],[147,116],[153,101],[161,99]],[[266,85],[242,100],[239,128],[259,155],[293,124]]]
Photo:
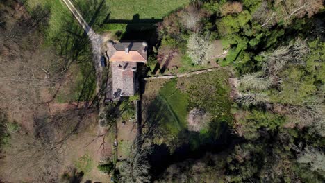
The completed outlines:
[[[220,153],[233,148],[235,144],[242,141],[239,137],[231,134],[226,123],[220,122],[220,125],[222,126],[222,134],[217,139],[214,138],[214,133],[205,136],[199,132],[183,130],[178,134],[181,144],[173,150],[173,153],[170,153],[170,149],[165,143],[151,146],[153,152],[149,156],[149,162],[152,167],[151,175],[153,180],[159,177],[172,164],[183,162],[186,159],[199,159],[208,152]]]

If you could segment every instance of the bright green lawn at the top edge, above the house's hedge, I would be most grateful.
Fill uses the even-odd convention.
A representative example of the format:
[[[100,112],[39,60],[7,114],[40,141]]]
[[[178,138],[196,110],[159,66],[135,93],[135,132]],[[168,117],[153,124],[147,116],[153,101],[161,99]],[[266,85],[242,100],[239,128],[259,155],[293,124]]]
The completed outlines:
[[[190,0],[107,0],[112,12],[111,19],[162,19],[169,12],[185,6]]]

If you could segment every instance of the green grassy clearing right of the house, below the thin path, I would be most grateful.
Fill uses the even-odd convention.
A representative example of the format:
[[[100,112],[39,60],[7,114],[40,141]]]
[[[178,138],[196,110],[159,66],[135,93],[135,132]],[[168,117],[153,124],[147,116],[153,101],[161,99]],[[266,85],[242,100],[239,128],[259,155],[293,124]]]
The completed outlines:
[[[228,77],[229,72],[220,69],[169,81],[147,80],[142,96],[143,119],[157,123],[162,132],[155,134],[154,141],[170,148],[190,144],[196,149],[218,139],[231,121]],[[207,121],[193,131],[189,129],[188,114],[194,108],[201,110]]]

